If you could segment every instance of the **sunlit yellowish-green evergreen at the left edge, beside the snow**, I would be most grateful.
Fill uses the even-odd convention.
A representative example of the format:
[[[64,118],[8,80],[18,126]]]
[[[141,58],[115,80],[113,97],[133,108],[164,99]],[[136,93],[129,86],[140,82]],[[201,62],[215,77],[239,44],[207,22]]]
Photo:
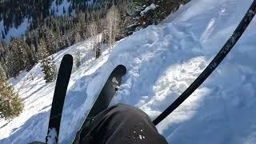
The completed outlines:
[[[0,65],[0,118],[10,120],[22,113],[22,99],[6,82],[6,74]]]

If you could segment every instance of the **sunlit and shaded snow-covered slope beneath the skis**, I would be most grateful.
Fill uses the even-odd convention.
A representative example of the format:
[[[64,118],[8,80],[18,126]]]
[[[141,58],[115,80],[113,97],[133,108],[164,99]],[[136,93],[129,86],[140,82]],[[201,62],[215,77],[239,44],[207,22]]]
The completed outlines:
[[[154,119],[202,72],[230,37],[252,0],[192,0],[158,26],[122,39],[109,54],[94,60],[94,39],[54,54],[81,51],[83,65],[74,72],[64,106],[61,143],[70,143],[88,114],[95,96],[118,64],[127,74],[112,105],[137,106]],[[170,143],[256,143],[255,19],[218,70],[158,125]],[[34,81],[31,80],[34,75]],[[24,98],[25,111],[11,122],[0,122],[0,143],[44,141],[54,94],[39,64],[11,79]]]

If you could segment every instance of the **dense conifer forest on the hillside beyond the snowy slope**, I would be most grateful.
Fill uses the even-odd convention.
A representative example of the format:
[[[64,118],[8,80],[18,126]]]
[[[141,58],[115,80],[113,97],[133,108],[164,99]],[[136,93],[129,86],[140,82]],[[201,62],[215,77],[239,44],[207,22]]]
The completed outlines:
[[[55,13],[55,6],[66,0],[2,0],[0,21],[4,22],[0,40],[0,64],[7,78],[16,77],[22,70],[30,70],[35,63],[66,47],[81,42],[96,34],[103,41],[95,43],[95,57],[101,54],[103,44],[113,45],[121,38],[151,24],[158,24],[186,0],[173,1],[85,1],[67,0],[69,6],[62,7],[62,15]],[[146,6],[155,3],[158,8],[148,14],[140,14]],[[12,26],[17,27],[28,18],[30,25],[22,37],[4,40]],[[122,23],[122,25],[121,25]]]

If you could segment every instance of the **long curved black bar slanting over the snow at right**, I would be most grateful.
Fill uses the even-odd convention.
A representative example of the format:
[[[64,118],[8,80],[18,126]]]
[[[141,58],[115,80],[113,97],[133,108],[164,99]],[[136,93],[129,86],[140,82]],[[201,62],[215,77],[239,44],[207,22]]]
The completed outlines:
[[[154,125],[158,125],[159,122],[162,122],[162,120],[166,118],[170,113],[172,113],[178,106],[180,106],[182,102],[186,100],[186,98],[190,97],[194,90],[197,90],[198,87],[202,85],[202,82],[205,82],[206,78],[212,74],[212,72],[218,67],[226,55],[229,54],[230,50],[232,50],[236,42],[238,42],[238,39],[241,38],[243,32],[254,18],[255,13],[256,0],[254,0],[254,2],[251,4],[249,10],[246,12],[246,15],[244,18],[242,18],[242,21],[239,23],[236,30],[234,30],[234,33],[230,39],[222,47],[222,50],[218,52],[218,54],[210,62],[206,69],[202,71],[202,74],[200,74],[198,78],[196,78],[194,82],[169,107],[167,107],[167,109],[164,110],[162,114],[158,116],[158,118],[154,119]]]

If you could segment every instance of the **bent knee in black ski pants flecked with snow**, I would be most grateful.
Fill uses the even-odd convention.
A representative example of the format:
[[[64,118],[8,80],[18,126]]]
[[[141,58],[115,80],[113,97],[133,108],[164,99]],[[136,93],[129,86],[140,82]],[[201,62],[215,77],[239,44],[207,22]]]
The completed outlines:
[[[75,144],[166,144],[148,115],[142,110],[118,104],[85,123]]]

